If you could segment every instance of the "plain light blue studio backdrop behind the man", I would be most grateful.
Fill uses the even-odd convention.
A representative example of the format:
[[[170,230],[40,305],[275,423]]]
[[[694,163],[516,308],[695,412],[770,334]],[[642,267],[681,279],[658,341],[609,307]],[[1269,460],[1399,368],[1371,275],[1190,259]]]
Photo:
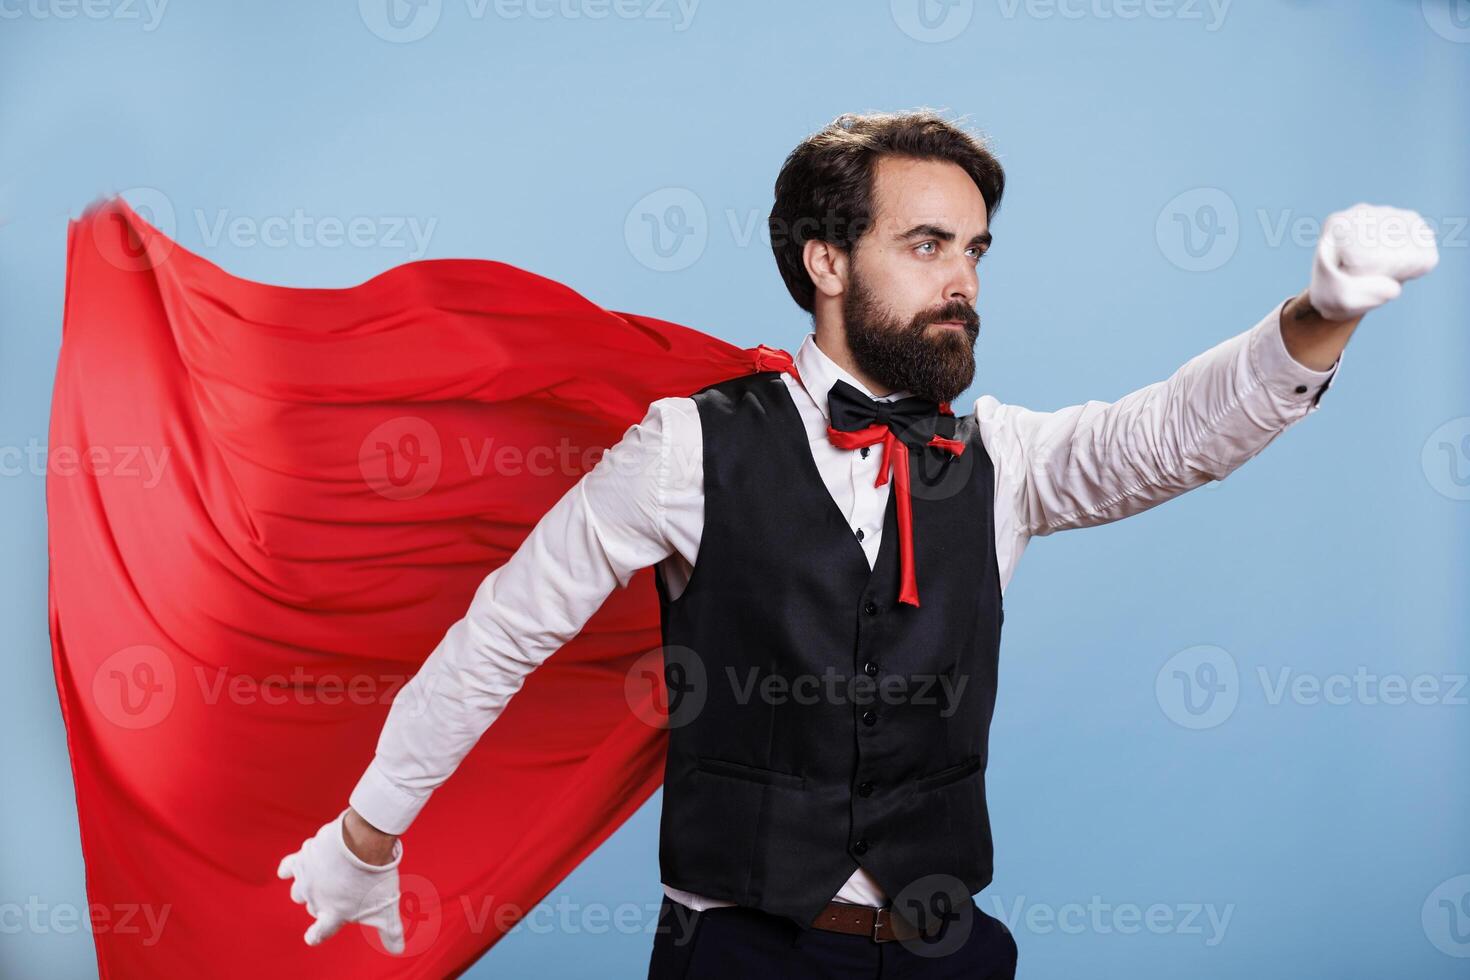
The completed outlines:
[[[1272,689],[1282,670],[1361,667],[1444,695],[1470,671],[1461,0],[1254,0],[1223,21],[1192,0],[1136,18],[1127,0],[935,3],[929,21],[914,0],[704,0],[692,18],[629,0],[639,16],[600,19],[591,0],[429,0],[398,10],[426,29],[410,41],[390,40],[384,0],[173,0],[157,19],[96,3],[0,3],[0,974],[96,976],[85,930],[15,911],[87,901],[44,480],[15,460],[46,441],[69,216],[109,192],[163,201],[185,247],[290,285],[500,259],[610,309],[795,350],[808,325],[761,231],[784,156],[841,112],[931,106],[989,134],[1010,178],[957,407],[989,391],[1057,408],[1167,376],[1307,285],[1314,234],[1280,239],[1283,220],[1364,200],[1441,231],[1439,270],[1364,322],[1320,413],[1223,483],[1022,561],[991,738],[997,874],[978,898],[1011,923],[1019,976],[1466,976],[1470,692]],[[213,234],[297,213],[382,234]],[[431,228],[428,247],[388,234],[395,219]],[[1238,682],[1233,711],[1195,730],[1155,680],[1201,645]],[[657,818],[656,796],[548,899],[641,905],[638,929],[548,914],[472,976],[642,976]],[[1161,904],[1175,926],[1067,911],[1089,904]],[[1229,914],[1223,936],[1210,909]]]

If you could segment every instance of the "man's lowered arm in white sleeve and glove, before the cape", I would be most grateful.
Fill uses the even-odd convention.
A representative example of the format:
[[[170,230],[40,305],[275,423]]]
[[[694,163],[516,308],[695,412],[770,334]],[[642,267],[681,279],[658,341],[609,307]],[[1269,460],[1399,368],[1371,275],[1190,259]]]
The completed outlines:
[[[465,616],[394,698],[350,805],[282,858],[276,873],[291,879],[291,901],[315,917],[309,945],[356,921],[378,929],[391,952],[403,951],[398,835],[526,676],[582,630],[613,588],[672,552],[664,505],[681,460],[666,413],[681,401],[654,401],[485,576]]]

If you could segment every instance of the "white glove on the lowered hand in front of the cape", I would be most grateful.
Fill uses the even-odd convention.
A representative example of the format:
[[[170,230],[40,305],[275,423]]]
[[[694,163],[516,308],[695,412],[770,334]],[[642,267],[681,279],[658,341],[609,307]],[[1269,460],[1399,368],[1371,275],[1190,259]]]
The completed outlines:
[[[291,901],[304,904],[316,920],[306,930],[306,945],[329,939],[345,923],[376,927],[391,954],[403,952],[403,918],[398,915],[398,862],[403,840],[392,842],[392,861],[368,864],[347,849],[343,818],[347,810],[322,824],[301,849],[281,858],[276,877],[293,879]]]

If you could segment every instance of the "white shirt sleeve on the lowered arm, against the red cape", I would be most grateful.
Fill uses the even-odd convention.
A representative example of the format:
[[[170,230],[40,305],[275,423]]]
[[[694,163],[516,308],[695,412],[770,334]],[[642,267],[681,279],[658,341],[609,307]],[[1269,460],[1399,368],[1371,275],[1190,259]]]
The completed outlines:
[[[651,403],[562,495],[398,691],[348,798],[368,823],[407,830],[526,676],[582,630],[614,586],[669,555],[664,413],[676,401]]]

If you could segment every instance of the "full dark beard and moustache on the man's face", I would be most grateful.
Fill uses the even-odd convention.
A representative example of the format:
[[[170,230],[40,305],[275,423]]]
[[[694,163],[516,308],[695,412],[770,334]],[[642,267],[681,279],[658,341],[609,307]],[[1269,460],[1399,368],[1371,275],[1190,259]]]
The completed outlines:
[[[942,403],[958,397],[975,381],[980,316],[961,300],[901,323],[854,273],[844,319],[853,360],[881,385]],[[964,331],[931,326],[945,320],[964,323]]]

